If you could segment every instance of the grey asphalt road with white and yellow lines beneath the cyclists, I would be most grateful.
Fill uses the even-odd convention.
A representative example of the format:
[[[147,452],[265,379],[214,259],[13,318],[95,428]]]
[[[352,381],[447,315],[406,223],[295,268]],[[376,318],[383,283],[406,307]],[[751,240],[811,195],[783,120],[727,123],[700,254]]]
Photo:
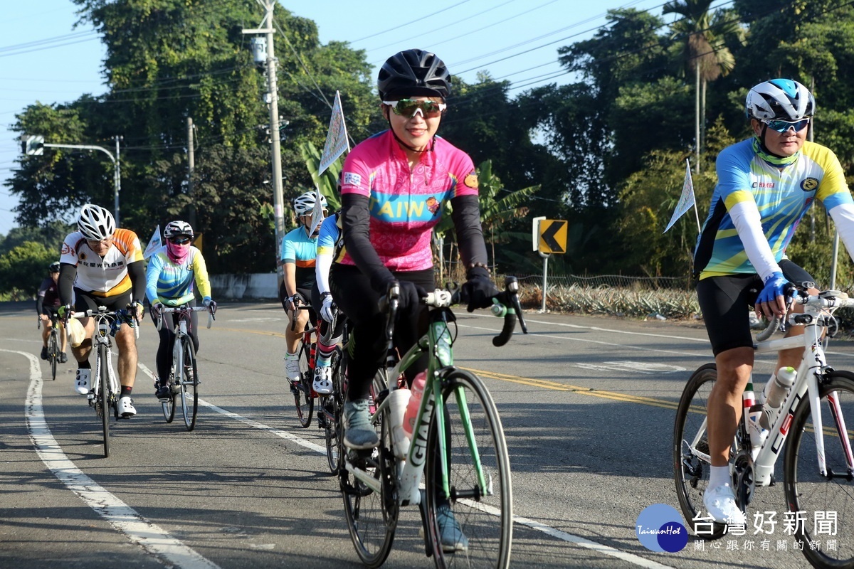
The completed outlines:
[[[511,453],[512,566],[808,566],[781,529],[764,550],[750,530],[716,543],[692,537],[674,554],[636,537],[644,508],[678,508],[672,427],[685,381],[711,361],[701,326],[531,312],[530,334],[495,348],[498,319],[457,316],[456,363],[486,381]],[[50,380],[35,324],[30,303],[0,305],[0,567],[360,566],[322,433],[295,418],[280,306],[220,305],[202,328],[204,404],[192,433],[163,420],[147,321],[138,414],[113,424],[106,459],[99,421],[73,394],[75,366]],[[830,361],[851,369],[852,352],[831,345]],[[772,368],[759,360],[757,377]],[[755,507],[781,517],[784,503],[776,485]],[[385,566],[432,566],[418,525],[405,508]]]

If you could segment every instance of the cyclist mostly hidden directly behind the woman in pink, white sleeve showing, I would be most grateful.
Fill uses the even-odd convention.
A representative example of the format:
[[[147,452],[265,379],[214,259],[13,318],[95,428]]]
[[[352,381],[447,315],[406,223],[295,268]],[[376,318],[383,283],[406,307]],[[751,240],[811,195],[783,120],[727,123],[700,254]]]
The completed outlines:
[[[341,211],[333,213],[320,224],[318,253],[314,267],[315,282],[312,287],[312,305],[319,307],[321,317],[318,336],[318,359],[314,367],[314,391],[321,395],[332,392],[332,369],[330,358],[335,346],[342,340],[344,317],[336,319],[335,328],[330,328],[333,318],[332,293],[329,272],[333,263],[344,255],[344,239],[341,232]]]

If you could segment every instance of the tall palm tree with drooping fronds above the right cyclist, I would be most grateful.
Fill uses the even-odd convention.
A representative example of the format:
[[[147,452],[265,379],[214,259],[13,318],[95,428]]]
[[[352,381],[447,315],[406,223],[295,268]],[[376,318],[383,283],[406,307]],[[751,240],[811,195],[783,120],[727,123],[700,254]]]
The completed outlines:
[[[686,71],[694,74],[694,140],[695,169],[699,172],[699,149],[705,135],[705,89],[710,81],[727,75],[735,67],[735,58],[724,44],[724,38],[735,35],[744,41],[745,31],[732,12],[709,7],[714,0],[671,0],[664,4],[664,14],[681,15],[670,26],[671,38],[681,38],[679,58],[685,61]],[[702,131],[701,131],[702,125]]]

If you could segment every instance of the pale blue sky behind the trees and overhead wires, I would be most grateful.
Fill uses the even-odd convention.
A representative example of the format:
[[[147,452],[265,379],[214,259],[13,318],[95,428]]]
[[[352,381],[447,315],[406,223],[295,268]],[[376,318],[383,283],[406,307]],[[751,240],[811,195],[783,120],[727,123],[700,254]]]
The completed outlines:
[[[5,186],[20,155],[20,142],[8,130],[15,113],[36,101],[72,102],[84,93],[100,95],[105,89],[100,39],[88,24],[73,27],[78,17],[71,0],[3,0],[2,4],[0,234],[5,235],[15,227],[11,210],[17,204]],[[536,84],[566,82],[568,78],[557,64],[557,49],[592,36],[605,24],[608,9],[635,8],[660,15],[664,2],[300,0],[282,5],[314,20],[322,43],[348,41],[354,49],[365,49],[375,67],[401,49],[430,49],[442,57],[452,74],[473,83],[477,72],[486,70],[493,78],[512,81],[514,95]],[[261,16],[259,6],[258,20],[248,22],[247,27],[260,24]]]

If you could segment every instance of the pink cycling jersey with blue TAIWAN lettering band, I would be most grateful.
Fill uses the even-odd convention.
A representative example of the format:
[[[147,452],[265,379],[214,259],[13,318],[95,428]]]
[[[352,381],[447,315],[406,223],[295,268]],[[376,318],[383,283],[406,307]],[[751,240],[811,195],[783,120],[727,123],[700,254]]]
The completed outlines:
[[[391,131],[383,131],[348,155],[341,193],[368,198],[371,244],[389,270],[424,270],[433,266],[430,232],[442,218],[442,204],[477,195],[477,172],[468,154],[438,136],[410,171]],[[341,263],[354,261],[346,254]]]

